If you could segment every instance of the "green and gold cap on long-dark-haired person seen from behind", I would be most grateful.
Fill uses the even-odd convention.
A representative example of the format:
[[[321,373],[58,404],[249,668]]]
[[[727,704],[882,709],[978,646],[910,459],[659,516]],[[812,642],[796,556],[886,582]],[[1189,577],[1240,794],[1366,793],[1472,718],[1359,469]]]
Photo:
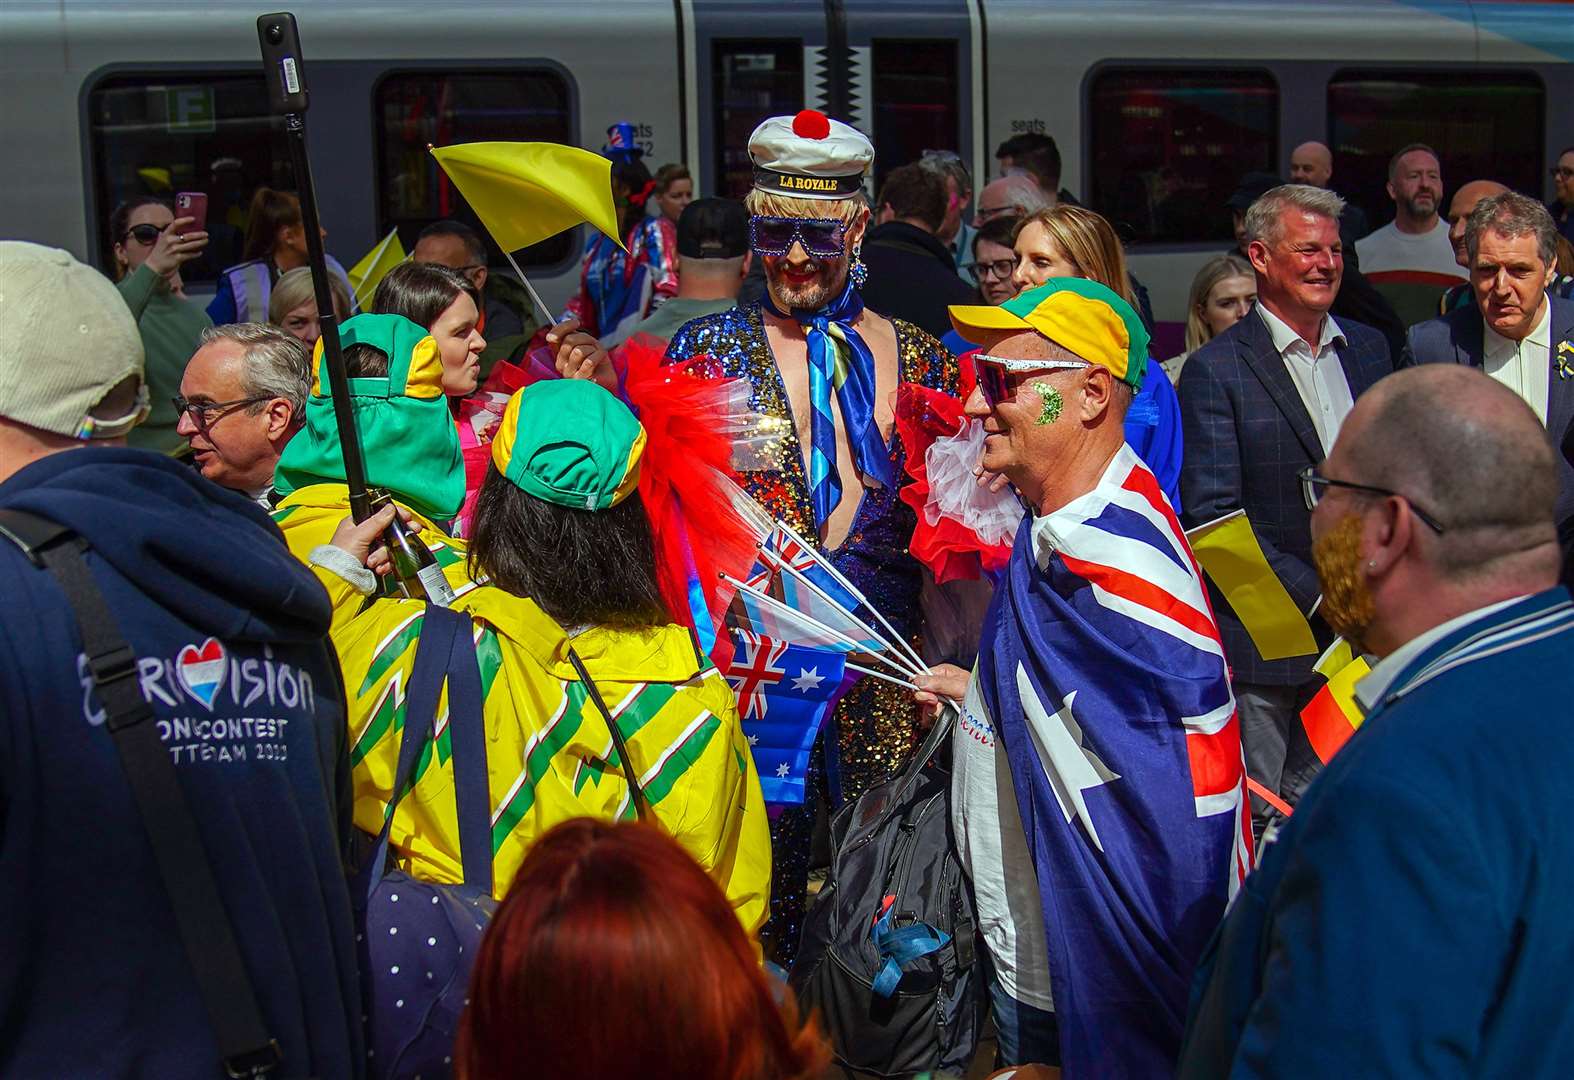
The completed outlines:
[[[645,428],[617,395],[587,379],[543,379],[508,398],[493,464],[526,494],[606,510],[639,486]]]

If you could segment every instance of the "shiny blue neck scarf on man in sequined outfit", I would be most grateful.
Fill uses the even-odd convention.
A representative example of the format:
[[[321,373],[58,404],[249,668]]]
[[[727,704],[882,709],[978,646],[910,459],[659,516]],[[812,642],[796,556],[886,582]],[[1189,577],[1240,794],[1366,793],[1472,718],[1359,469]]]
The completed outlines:
[[[814,504],[815,529],[825,529],[831,510],[842,499],[842,477],[836,471],[836,417],[831,416],[831,390],[842,406],[847,442],[853,463],[888,488],[896,486],[891,450],[875,423],[875,357],[858,337],[853,321],[863,313],[864,301],[852,282],[842,294],[817,312],[793,309],[785,313],[765,293],[765,310],[779,318],[796,320],[809,338],[809,499]],[[837,348],[841,342],[845,348]]]

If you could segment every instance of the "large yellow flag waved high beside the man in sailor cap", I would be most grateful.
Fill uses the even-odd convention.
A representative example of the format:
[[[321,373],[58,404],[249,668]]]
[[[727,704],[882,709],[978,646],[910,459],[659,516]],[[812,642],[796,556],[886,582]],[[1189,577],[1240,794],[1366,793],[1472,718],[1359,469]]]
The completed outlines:
[[[486,225],[515,252],[589,222],[623,246],[612,203],[612,162],[560,143],[461,143],[431,156]]]

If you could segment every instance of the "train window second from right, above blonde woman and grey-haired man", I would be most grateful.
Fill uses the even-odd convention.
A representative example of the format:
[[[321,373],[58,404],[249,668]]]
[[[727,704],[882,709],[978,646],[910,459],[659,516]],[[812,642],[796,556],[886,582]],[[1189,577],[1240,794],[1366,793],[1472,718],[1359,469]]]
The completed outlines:
[[[1225,200],[1278,161],[1278,85],[1267,71],[1105,68],[1088,131],[1088,198],[1127,242],[1229,242]]]

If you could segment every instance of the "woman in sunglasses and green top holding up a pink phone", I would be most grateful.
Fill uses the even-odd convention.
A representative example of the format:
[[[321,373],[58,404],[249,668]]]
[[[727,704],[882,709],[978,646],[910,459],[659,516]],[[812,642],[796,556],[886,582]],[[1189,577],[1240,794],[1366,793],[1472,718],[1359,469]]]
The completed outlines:
[[[211,326],[203,310],[186,299],[181,266],[201,255],[208,233],[183,231],[194,222],[176,220],[170,203],[156,195],[127,198],[109,216],[115,287],[142,334],[145,381],[151,411],[126,436],[129,446],[175,453],[186,446],[176,431],[173,397],[186,361]]]

